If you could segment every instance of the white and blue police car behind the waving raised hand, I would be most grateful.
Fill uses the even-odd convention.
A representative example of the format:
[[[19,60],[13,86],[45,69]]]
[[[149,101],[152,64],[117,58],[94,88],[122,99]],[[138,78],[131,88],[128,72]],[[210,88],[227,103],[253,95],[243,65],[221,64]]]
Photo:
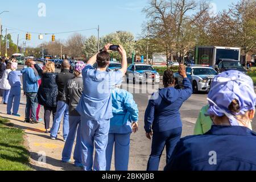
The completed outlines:
[[[190,65],[186,68],[187,76],[192,83],[193,93],[209,92],[210,84],[218,73],[208,66]],[[175,73],[176,86],[183,87],[183,77],[179,73]]]

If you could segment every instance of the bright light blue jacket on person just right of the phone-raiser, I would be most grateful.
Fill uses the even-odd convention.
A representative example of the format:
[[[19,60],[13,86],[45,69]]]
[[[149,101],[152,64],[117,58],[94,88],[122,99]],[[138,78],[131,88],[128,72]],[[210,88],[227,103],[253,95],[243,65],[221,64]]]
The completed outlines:
[[[109,133],[131,133],[131,122],[137,122],[139,118],[138,106],[133,100],[133,95],[123,89],[112,89],[112,107],[114,117],[110,119]]]

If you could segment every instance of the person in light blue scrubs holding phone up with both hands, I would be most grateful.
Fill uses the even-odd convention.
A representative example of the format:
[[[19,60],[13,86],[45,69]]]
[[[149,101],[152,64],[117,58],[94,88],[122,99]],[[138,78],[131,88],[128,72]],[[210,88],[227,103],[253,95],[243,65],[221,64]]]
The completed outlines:
[[[122,57],[122,67],[119,71],[107,72],[110,64],[108,44],[104,49],[91,57],[82,70],[84,91],[76,110],[81,115],[81,145],[82,164],[85,171],[106,170],[106,147],[110,118],[112,113],[112,86],[121,84],[127,71],[126,51],[119,46],[118,52]],[[93,65],[97,62],[98,68]],[[96,153],[93,160],[93,150]]]

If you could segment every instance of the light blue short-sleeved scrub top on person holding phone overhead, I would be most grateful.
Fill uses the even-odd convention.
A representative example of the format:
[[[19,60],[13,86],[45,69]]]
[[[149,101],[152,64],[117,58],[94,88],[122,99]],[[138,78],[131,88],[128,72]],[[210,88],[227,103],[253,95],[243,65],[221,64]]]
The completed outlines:
[[[82,70],[82,79],[84,91],[76,108],[81,117],[96,120],[112,118],[111,89],[122,83],[122,72],[99,71],[88,64]]]

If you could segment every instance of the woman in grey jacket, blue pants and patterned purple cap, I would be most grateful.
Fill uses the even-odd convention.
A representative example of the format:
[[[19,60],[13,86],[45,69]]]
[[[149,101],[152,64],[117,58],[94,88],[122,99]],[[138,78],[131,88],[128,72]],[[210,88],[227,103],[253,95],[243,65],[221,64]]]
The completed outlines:
[[[80,114],[76,111],[76,106],[82,96],[82,90],[84,86],[82,84],[82,69],[84,69],[85,63],[79,61],[75,65],[74,75],[75,78],[68,81],[65,85],[63,92],[63,99],[69,105],[69,134],[62,153],[62,162],[67,163],[71,158],[71,152],[76,138],[76,147],[74,151],[74,160],[76,167],[82,167],[82,155],[81,155],[81,140],[80,140]],[[77,129],[78,128],[78,129]]]

